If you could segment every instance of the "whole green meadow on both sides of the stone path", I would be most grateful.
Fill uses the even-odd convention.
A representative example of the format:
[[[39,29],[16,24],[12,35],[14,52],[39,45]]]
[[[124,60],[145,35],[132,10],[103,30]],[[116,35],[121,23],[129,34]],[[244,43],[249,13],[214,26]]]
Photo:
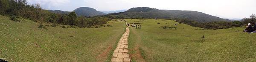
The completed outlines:
[[[141,29],[130,27],[128,54],[132,62],[256,61],[256,34],[242,32],[244,27],[203,30],[172,20],[125,20],[141,25]],[[0,59],[109,62],[126,26],[125,22],[114,20],[107,24],[113,27],[62,28],[59,25],[44,29],[38,28],[37,22],[14,22],[0,16]]]

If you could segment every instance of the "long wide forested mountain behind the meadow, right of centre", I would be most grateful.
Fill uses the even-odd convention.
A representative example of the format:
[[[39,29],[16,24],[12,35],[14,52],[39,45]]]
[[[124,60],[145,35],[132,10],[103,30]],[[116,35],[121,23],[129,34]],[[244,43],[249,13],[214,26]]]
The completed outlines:
[[[230,21],[228,19],[221,19],[217,16],[211,16],[197,11],[180,11],[180,10],[159,10],[156,8],[138,7],[131,8],[128,11],[120,13],[110,13],[110,16],[116,18],[148,18],[148,19],[189,19],[197,22],[213,22],[213,21]]]

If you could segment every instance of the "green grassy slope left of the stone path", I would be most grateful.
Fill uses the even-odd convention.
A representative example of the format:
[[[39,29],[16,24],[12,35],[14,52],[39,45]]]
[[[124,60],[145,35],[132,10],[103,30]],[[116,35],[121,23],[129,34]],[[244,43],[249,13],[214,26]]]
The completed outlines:
[[[8,17],[0,16],[0,58],[53,62],[109,60],[106,57],[111,57],[108,56],[111,54],[107,49],[111,49],[125,31],[124,23],[109,23],[113,27],[47,27],[48,30],[44,30],[38,28],[39,24],[35,22],[13,22]]]

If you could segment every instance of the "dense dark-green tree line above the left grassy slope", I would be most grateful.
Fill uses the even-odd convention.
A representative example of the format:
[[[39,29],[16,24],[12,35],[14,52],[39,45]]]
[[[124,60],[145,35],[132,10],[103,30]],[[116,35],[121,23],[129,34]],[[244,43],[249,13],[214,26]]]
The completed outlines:
[[[30,19],[41,24],[64,24],[78,27],[102,25],[111,20],[106,16],[77,16],[75,12],[69,14],[50,13],[42,9],[39,4],[28,5],[27,0],[0,0],[0,15],[9,16],[14,21]]]

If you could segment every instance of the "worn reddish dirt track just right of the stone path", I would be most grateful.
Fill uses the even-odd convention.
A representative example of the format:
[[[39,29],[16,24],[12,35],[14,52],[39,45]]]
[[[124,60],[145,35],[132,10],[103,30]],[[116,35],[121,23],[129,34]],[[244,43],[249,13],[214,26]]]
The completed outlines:
[[[131,34],[134,34],[137,38],[137,42],[135,43],[135,48],[132,50],[135,50],[136,53],[135,54],[130,54],[131,58],[136,59],[137,62],[145,62],[145,59],[143,59],[143,57],[141,56],[141,52],[140,52],[140,45],[138,44],[138,42],[142,41],[140,35],[133,29],[131,29]]]

